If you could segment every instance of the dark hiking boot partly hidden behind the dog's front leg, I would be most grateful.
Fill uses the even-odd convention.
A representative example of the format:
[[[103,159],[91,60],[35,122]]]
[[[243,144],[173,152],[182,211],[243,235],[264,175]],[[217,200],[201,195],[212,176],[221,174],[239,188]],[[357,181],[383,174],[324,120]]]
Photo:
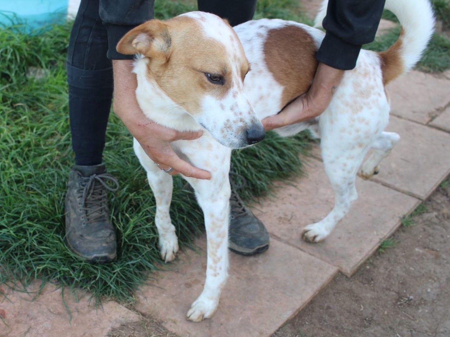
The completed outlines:
[[[269,248],[269,233],[260,219],[246,208],[237,193],[237,186],[233,176],[244,178],[232,171],[229,174],[231,184],[231,196],[229,198],[231,217],[229,223],[229,250],[241,255],[254,255],[265,252]]]

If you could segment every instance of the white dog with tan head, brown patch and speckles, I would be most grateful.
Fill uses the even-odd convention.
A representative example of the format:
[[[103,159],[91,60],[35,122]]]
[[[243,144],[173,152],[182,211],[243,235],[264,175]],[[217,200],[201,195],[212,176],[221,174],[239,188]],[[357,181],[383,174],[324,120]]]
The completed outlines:
[[[324,18],[326,6],[327,0],[316,22]],[[312,128],[321,136],[335,205],[323,220],[305,227],[302,236],[310,242],[325,239],[357,199],[356,174],[369,149],[373,154],[359,170],[365,179],[378,171],[380,161],[400,140],[398,134],[384,132],[390,109],[385,86],[419,60],[434,18],[428,0],[416,0],[414,5],[387,0],[386,8],[403,27],[396,43],[381,53],[361,50],[356,68],[345,72],[322,115],[276,130],[290,136]],[[297,22],[261,19],[233,30],[213,14],[191,12],[145,22],[117,44],[118,52],[138,55],[133,71],[144,114],[172,129],[204,131],[196,140],[171,143],[182,159],[212,175],[211,180],[184,177],[193,186],[207,232],[206,281],[187,313],[192,321],[214,314],[227,279],[231,149],[261,141],[265,136],[261,120],[309,89],[323,37],[319,29]],[[159,248],[169,262],[179,249],[169,215],[172,177],[136,140],[134,150],[155,195]]]

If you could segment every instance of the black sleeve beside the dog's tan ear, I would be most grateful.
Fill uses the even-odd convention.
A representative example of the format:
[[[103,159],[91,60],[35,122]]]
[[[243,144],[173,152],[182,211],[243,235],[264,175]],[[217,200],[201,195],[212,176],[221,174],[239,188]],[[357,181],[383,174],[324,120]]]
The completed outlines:
[[[100,0],[100,18],[108,30],[108,58],[133,58],[133,55],[117,53],[116,45],[128,31],[153,19],[153,3],[154,0]]]

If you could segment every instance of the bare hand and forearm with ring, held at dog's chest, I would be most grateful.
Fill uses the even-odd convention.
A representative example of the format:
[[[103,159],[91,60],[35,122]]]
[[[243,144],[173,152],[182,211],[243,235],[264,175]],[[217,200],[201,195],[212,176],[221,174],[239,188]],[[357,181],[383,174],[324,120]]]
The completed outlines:
[[[113,60],[112,67],[114,70],[114,112],[136,138],[148,157],[164,170],[173,168],[169,173],[171,175],[181,173],[186,177],[211,179],[211,173],[181,160],[170,146],[170,143],[176,140],[197,139],[202,136],[203,131],[179,132],[149,120],[136,101],[137,81],[135,74],[131,72],[132,61]]]

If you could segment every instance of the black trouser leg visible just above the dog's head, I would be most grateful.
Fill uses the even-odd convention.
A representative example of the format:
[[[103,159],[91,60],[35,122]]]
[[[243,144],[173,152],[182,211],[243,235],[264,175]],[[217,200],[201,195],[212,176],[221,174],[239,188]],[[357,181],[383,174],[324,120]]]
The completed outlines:
[[[252,20],[257,0],[197,0],[198,10],[227,19],[231,26]]]

